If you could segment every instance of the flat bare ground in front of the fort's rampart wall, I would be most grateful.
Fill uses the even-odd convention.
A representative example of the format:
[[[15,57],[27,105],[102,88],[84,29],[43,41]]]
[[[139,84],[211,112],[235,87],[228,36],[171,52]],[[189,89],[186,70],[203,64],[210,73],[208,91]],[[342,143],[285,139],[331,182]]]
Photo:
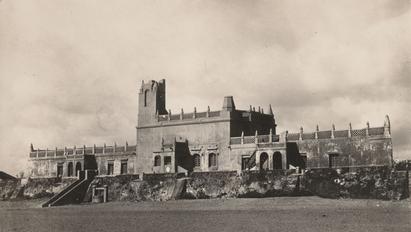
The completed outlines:
[[[411,231],[410,200],[279,197],[38,208],[40,202],[0,202],[0,231]]]

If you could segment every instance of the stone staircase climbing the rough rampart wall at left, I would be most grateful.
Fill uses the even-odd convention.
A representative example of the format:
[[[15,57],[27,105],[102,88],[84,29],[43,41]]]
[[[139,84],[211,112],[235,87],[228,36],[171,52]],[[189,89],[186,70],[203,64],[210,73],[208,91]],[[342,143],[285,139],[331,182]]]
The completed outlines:
[[[96,176],[95,170],[80,171],[79,179],[67,186],[61,192],[54,195],[42,207],[52,207],[67,204],[79,204],[83,202],[90,183]]]

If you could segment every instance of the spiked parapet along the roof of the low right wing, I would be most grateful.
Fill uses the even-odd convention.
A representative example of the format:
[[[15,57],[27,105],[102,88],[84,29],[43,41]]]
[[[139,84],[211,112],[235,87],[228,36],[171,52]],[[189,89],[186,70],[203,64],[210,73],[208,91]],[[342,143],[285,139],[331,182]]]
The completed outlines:
[[[287,131],[281,135],[258,135],[255,136],[241,136],[231,137],[230,144],[251,144],[251,143],[274,143],[278,141],[302,141],[302,140],[319,140],[319,139],[338,139],[338,138],[352,138],[352,137],[391,137],[391,124],[388,115],[385,116],[384,126],[370,127],[367,122],[363,129],[352,129],[351,123],[348,130],[335,130],[332,125],[331,130],[320,131],[317,125],[315,132],[305,133],[303,128],[300,128],[299,133],[288,133]],[[271,137],[271,140],[270,140]]]

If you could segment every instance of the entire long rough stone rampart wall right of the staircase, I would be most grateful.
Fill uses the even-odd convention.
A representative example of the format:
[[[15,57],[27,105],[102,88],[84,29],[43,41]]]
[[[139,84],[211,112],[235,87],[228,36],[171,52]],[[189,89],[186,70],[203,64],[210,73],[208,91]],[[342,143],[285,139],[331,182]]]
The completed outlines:
[[[408,176],[389,167],[357,168],[356,172],[312,169],[266,172],[193,172],[189,177],[145,174],[96,177],[91,186],[108,186],[109,201],[168,201],[173,199],[261,198],[317,195],[326,198],[370,198],[400,200],[409,196]],[[182,185],[182,186],[180,186]]]

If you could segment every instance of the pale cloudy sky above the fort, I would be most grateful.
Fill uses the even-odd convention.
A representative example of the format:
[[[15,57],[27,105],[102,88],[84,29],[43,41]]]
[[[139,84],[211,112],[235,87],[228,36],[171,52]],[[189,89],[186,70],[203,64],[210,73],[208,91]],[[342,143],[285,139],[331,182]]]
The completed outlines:
[[[0,170],[30,143],[135,144],[142,80],[172,112],[274,110],[278,131],[382,126],[411,159],[411,1],[0,0]]]

